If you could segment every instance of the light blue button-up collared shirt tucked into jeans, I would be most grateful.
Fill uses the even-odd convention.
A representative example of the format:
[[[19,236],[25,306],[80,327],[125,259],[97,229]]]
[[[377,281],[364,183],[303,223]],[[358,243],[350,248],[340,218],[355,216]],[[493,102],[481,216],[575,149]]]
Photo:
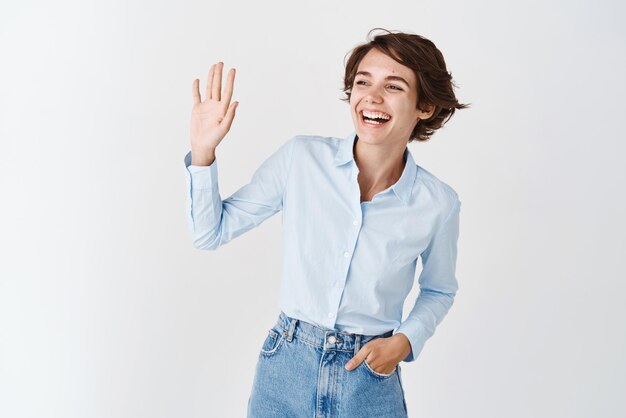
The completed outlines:
[[[407,147],[400,179],[361,202],[358,138],[297,135],[283,143],[226,199],[217,158],[184,159],[193,244],[216,250],[282,211],[280,309],[326,329],[405,334],[415,360],[452,306],[461,202],[417,165]],[[421,257],[420,293],[402,321]]]

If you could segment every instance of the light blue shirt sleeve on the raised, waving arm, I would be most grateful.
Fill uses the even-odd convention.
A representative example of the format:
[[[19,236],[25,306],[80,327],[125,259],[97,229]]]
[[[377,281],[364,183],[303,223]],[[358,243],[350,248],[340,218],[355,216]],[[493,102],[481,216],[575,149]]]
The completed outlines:
[[[285,142],[257,168],[248,184],[223,200],[218,159],[209,166],[194,166],[191,151],[187,153],[187,222],[195,248],[216,250],[282,209],[295,139]]]

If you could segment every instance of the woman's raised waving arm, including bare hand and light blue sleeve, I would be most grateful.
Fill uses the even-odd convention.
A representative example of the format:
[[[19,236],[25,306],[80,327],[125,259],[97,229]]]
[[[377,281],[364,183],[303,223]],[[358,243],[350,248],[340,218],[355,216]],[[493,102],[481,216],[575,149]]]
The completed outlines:
[[[230,129],[236,103],[229,106],[234,69],[221,100],[222,63],[211,66],[206,99],[200,100],[199,80],[193,82],[191,151],[185,156],[187,219],[194,247],[216,250],[260,225],[282,209],[295,138],[284,143],[255,171],[250,182],[227,199],[219,194],[215,149]],[[214,75],[215,73],[215,75]]]

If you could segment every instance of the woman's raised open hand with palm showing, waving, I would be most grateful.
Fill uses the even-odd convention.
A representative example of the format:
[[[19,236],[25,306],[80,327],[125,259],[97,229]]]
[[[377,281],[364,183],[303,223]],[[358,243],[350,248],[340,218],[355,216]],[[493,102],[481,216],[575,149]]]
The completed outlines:
[[[191,158],[192,165],[210,165],[215,159],[215,148],[224,139],[235,117],[239,102],[230,103],[235,83],[235,69],[228,71],[228,79],[222,97],[223,62],[211,65],[205,90],[200,97],[200,80],[192,86],[193,109],[191,111]]]

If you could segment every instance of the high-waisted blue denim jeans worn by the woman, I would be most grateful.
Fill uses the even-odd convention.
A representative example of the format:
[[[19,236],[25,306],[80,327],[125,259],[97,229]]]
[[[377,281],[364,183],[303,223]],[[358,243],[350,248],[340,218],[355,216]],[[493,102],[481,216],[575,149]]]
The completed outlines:
[[[344,368],[365,343],[392,334],[322,329],[281,311],[259,353],[248,418],[406,418],[399,364],[389,374],[365,361]]]

